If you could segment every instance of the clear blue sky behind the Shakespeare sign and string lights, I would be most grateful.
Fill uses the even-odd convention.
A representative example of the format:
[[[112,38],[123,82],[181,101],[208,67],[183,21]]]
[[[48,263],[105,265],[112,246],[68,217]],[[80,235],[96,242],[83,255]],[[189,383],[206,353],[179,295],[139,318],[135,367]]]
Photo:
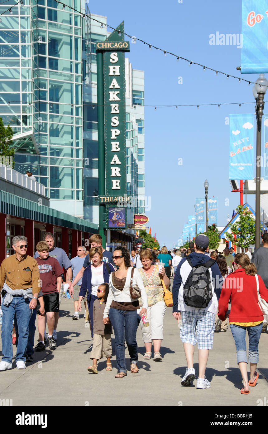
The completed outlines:
[[[166,51],[251,81],[258,78],[236,70],[241,65],[241,0],[92,0],[89,7],[91,13],[107,16],[113,27],[124,20],[126,33]],[[211,45],[210,35],[217,32],[237,34],[237,45]],[[161,246],[171,248],[188,215],[194,214],[195,197],[204,197],[206,178],[209,197],[219,199],[218,226],[227,224],[227,215],[239,204],[239,193],[231,193],[229,184],[226,117],[255,113],[252,85],[177,62],[139,41],[130,44],[128,54],[132,67],[145,71],[145,105],[153,105],[145,107],[145,195],[151,197],[151,210],[145,214]],[[197,109],[231,102],[252,103]],[[195,106],[154,109],[179,104]],[[255,209],[255,196],[248,195],[247,201]]]

